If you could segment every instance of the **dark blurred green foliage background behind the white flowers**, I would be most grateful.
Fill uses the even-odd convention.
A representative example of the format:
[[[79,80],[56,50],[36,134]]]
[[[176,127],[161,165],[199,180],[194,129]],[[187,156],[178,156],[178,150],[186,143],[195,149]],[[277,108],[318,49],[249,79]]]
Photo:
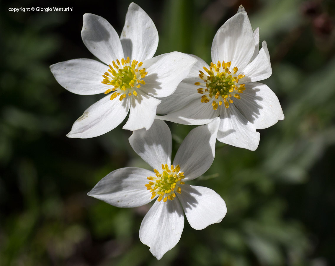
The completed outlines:
[[[93,139],[68,139],[98,96],[62,88],[49,65],[94,58],[82,15],[105,17],[120,34],[130,1],[0,2],[0,265],[335,265],[335,3],[332,0],[137,1],[159,34],[157,55],[181,51],[210,62],[220,25],[243,4],[273,74],[264,81],[285,120],[260,130],[255,152],[217,142],[212,167],[193,184],[225,200],[226,217],[157,261],[138,237],[150,206],[120,209],[86,196],[126,166],[147,167],[124,123]],[[10,12],[10,7],[73,7]],[[192,127],[169,124],[174,152]],[[332,174],[333,173],[333,174]],[[149,204],[150,205],[150,204]]]

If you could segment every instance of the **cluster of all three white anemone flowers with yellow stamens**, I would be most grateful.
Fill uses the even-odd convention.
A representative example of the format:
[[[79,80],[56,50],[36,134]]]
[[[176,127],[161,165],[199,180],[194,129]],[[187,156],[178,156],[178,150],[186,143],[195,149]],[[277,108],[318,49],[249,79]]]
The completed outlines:
[[[216,192],[187,184],[211,166],[216,139],[255,150],[256,129],[284,119],[275,94],[258,83],[272,73],[266,43],[259,50],[259,30],[253,32],[242,6],[214,36],[209,65],[180,52],[153,57],[157,30],[135,3],[129,5],[120,38],[106,19],[93,14],[84,14],[81,36],[102,62],[73,59],[51,65],[51,71],[70,92],[106,96],[84,111],[67,136],[100,136],[130,111],[123,128],[133,131],[131,147],[153,170],[117,169],[88,195],[122,208],[155,200],[139,236],[159,260],[179,242],[184,213],[196,230],[219,223],[226,214]],[[201,125],[189,132],[173,162],[172,136],[163,120]]]

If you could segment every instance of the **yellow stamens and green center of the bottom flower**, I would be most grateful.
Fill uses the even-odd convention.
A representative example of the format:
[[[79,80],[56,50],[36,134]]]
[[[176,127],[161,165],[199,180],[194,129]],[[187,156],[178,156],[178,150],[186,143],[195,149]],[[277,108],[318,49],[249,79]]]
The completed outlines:
[[[171,165],[171,169],[169,169],[167,164],[162,164],[162,170],[163,172],[160,174],[156,169],[153,169],[156,176],[148,176],[147,178],[150,181],[145,186],[152,194],[151,199],[159,195],[157,201],[162,199],[164,202],[174,200],[176,197],[175,191],[179,194],[182,193],[180,185],[185,184],[185,182],[181,181],[185,177],[184,173],[179,173],[179,164],[175,168]]]

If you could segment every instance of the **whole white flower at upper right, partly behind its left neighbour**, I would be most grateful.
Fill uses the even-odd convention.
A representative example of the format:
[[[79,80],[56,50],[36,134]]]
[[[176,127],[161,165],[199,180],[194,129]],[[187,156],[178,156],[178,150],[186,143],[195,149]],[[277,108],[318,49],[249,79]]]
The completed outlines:
[[[253,32],[240,6],[214,36],[212,62],[201,58],[174,94],[162,98],[156,118],[187,125],[207,124],[220,117],[217,139],[256,150],[263,129],[284,119],[277,96],[258,83],[272,74],[266,42],[259,50],[259,29]],[[163,115],[164,114],[164,115]]]

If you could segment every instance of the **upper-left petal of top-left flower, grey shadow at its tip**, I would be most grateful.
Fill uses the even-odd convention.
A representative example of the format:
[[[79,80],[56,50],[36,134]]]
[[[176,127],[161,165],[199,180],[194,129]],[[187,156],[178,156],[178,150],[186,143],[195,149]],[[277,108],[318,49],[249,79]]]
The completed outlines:
[[[124,57],[117,32],[103,17],[84,14],[81,38],[87,49],[107,65]]]

